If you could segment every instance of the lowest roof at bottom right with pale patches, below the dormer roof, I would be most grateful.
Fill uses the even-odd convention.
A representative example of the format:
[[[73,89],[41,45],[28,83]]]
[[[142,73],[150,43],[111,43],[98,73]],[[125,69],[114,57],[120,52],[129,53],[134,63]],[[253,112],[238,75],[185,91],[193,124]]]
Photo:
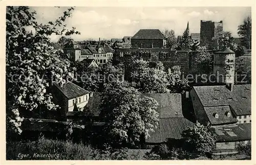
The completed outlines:
[[[234,142],[251,139],[251,124],[211,127],[217,142]]]

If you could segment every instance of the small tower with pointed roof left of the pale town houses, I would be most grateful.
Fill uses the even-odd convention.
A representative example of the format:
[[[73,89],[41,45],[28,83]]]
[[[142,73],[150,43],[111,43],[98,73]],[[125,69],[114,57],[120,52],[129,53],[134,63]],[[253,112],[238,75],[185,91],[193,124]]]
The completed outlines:
[[[70,60],[77,61],[81,56],[81,49],[75,41],[70,40],[69,42],[64,44],[63,53]]]

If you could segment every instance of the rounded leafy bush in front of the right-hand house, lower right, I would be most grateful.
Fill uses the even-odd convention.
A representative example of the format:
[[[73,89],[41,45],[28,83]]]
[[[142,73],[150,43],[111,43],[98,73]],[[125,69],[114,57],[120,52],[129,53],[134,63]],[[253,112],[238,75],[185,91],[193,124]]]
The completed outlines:
[[[215,137],[210,132],[209,126],[196,123],[182,132],[185,148],[197,154],[208,154],[215,147]]]

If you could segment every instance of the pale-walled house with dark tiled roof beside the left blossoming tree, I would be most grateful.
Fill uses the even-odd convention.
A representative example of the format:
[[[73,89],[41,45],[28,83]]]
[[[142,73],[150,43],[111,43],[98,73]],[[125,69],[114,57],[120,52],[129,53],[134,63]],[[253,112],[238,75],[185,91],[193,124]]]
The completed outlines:
[[[51,93],[53,95],[53,102],[61,108],[62,116],[66,116],[67,112],[73,111],[75,105],[77,108],[84,108],[89,98],[92,97],[92,93],[72,82],[67,82],[62,86],[53,82]]]

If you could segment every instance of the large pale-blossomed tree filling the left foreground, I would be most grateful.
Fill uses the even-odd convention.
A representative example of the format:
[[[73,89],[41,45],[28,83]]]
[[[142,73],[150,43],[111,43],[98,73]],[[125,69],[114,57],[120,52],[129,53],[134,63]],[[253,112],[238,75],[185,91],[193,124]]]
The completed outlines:
[[[29,7],[7,7],[6,11],[6,100],[7,129],[19,128],[25,111],[57,109],[47,93],[52,79],[60,85],[69,72],[69,61],[61,59],[60,51],[52,48],[49,36],[79,34],[73,28],[65,29],[63,22],[74,8],[47,25],[38,24],[36,12]],[[31,27],[32,32],[26,29]],[[62,30],[59,30],[62,28]],[[19,79],[19,80],[15,80]]]

